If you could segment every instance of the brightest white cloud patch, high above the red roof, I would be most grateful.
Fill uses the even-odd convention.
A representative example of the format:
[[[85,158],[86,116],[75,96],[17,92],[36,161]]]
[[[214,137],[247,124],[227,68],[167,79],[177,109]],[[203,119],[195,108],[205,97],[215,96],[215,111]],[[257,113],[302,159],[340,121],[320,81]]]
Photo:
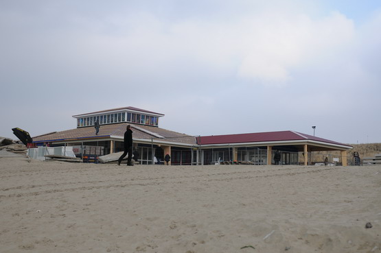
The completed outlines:
[[[336,50],[354,37],[353,23],[338,13],[317,21],[304,14],[280,19],[262,16],[250,23],[255,29],[248,32],[253,36],[238,75],[258,78],[262,84],[292,81],[294,69],[319,64],[316,58],[323,55],[324,60],[335,57]]]

